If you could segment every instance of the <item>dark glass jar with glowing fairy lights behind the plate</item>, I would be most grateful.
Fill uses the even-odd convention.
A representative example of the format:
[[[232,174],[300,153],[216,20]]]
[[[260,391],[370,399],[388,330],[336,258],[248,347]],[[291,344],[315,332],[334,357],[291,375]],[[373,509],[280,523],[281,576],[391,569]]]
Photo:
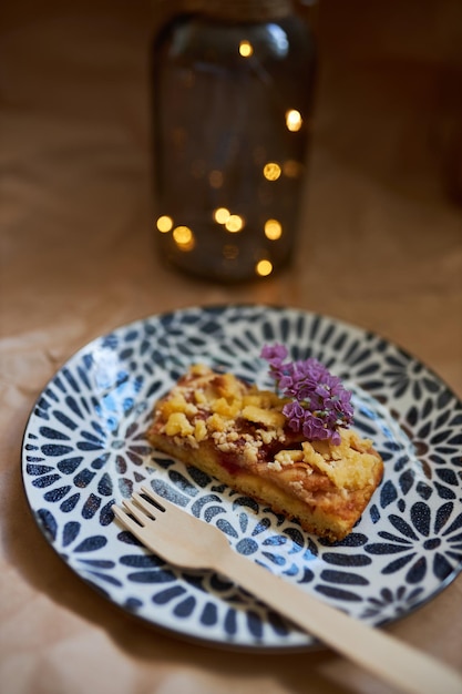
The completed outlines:
[[[265,277],[294,252],[316,50],[286,0],[202,0],[154,45],[156,235],[174,266]]]

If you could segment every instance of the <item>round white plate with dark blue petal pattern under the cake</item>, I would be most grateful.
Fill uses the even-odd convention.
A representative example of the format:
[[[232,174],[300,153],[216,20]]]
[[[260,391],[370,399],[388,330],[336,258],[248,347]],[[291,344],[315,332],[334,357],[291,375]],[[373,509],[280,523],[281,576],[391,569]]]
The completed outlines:
[[[192,363],[271,387],[264,344],[314,356],[353,392],[355,428],[384,478],[353,532],[329,544],[145,440],[155,400]],[[462,569],[462,404],[430,369],[339,320],[268,306],[196,307],[100,337],[48,384],[23,440],[25,492],[60,557],[109,600],[185,639],[230,647],[316,644],[214,573],[145,550],[112,504],[141,483],[217,525],[249,561],[370,624],[434,598]]]

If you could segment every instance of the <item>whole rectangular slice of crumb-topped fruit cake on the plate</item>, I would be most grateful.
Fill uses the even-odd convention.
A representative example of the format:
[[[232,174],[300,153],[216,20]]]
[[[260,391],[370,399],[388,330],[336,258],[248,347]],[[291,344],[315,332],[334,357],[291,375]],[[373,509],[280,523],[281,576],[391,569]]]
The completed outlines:
[[[232,374],[195,365],[154,408],[151,443],[271,508],[310,533],[338,541],[380,483],[369,439],[341,428],[340,443],[308,441],[283,414],[287,402]]]

